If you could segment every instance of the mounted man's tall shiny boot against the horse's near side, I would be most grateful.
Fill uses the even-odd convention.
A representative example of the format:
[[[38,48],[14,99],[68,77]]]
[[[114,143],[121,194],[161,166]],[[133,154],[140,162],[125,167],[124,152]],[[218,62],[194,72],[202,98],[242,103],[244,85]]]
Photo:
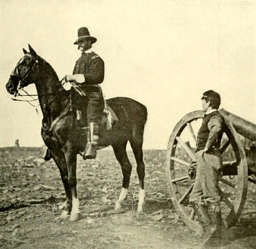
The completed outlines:
[[[98,144],[98,141],[100,137],[98,136],[98,129],[99,126],[97,123],[89,123],[89,129],[90,129],[90,141],[87,142],[83,159],[95,159],[96,158],[96,145]]]

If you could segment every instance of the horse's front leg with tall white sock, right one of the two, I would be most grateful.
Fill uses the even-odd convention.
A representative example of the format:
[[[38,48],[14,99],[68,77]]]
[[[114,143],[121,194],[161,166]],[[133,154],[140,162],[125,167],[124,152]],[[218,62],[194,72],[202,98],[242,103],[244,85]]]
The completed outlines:
[[[72,149],[72,144],[65,147],[65,158],[68,167],[68,184],[72,194],[72,209],[70,220],[76,221],[80,218],[79,200],[76,192],[76,152]]]

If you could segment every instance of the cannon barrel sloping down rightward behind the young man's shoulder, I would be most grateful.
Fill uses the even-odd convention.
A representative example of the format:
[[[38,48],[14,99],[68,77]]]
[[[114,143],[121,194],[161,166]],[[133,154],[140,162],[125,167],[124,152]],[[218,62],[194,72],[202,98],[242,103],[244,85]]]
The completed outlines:
[[[219,110],[221,115],[228,119],[236,132],[252,141],[256,141],[256,124],[238,117],[224,109]]]

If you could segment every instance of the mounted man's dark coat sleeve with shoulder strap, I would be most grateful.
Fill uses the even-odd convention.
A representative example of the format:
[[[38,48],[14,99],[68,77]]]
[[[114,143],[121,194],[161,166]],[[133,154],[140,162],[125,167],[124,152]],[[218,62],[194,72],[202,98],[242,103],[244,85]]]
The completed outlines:
[[[100,84],[104,80],[104,61],[99,55],[93,53],[89,58],[88,73],[84,73],[85,83],[87,85]]]

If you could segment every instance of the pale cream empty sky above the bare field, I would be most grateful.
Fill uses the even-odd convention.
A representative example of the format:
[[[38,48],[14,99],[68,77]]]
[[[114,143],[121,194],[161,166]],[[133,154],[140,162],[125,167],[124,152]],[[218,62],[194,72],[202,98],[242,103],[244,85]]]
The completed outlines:
[[[148,108],[144,149],[165,149],[174,126],[202,109],[213,89],[221,107],[256,123],[256,2],[193,0],[1,0],[0,146],[41,146],[41,120],[5,84],[28,43],[60,78],[80,56],[73,42],[88,27],[105,62],[106,98]],[[29,87],[32,93],[35,87]]]

